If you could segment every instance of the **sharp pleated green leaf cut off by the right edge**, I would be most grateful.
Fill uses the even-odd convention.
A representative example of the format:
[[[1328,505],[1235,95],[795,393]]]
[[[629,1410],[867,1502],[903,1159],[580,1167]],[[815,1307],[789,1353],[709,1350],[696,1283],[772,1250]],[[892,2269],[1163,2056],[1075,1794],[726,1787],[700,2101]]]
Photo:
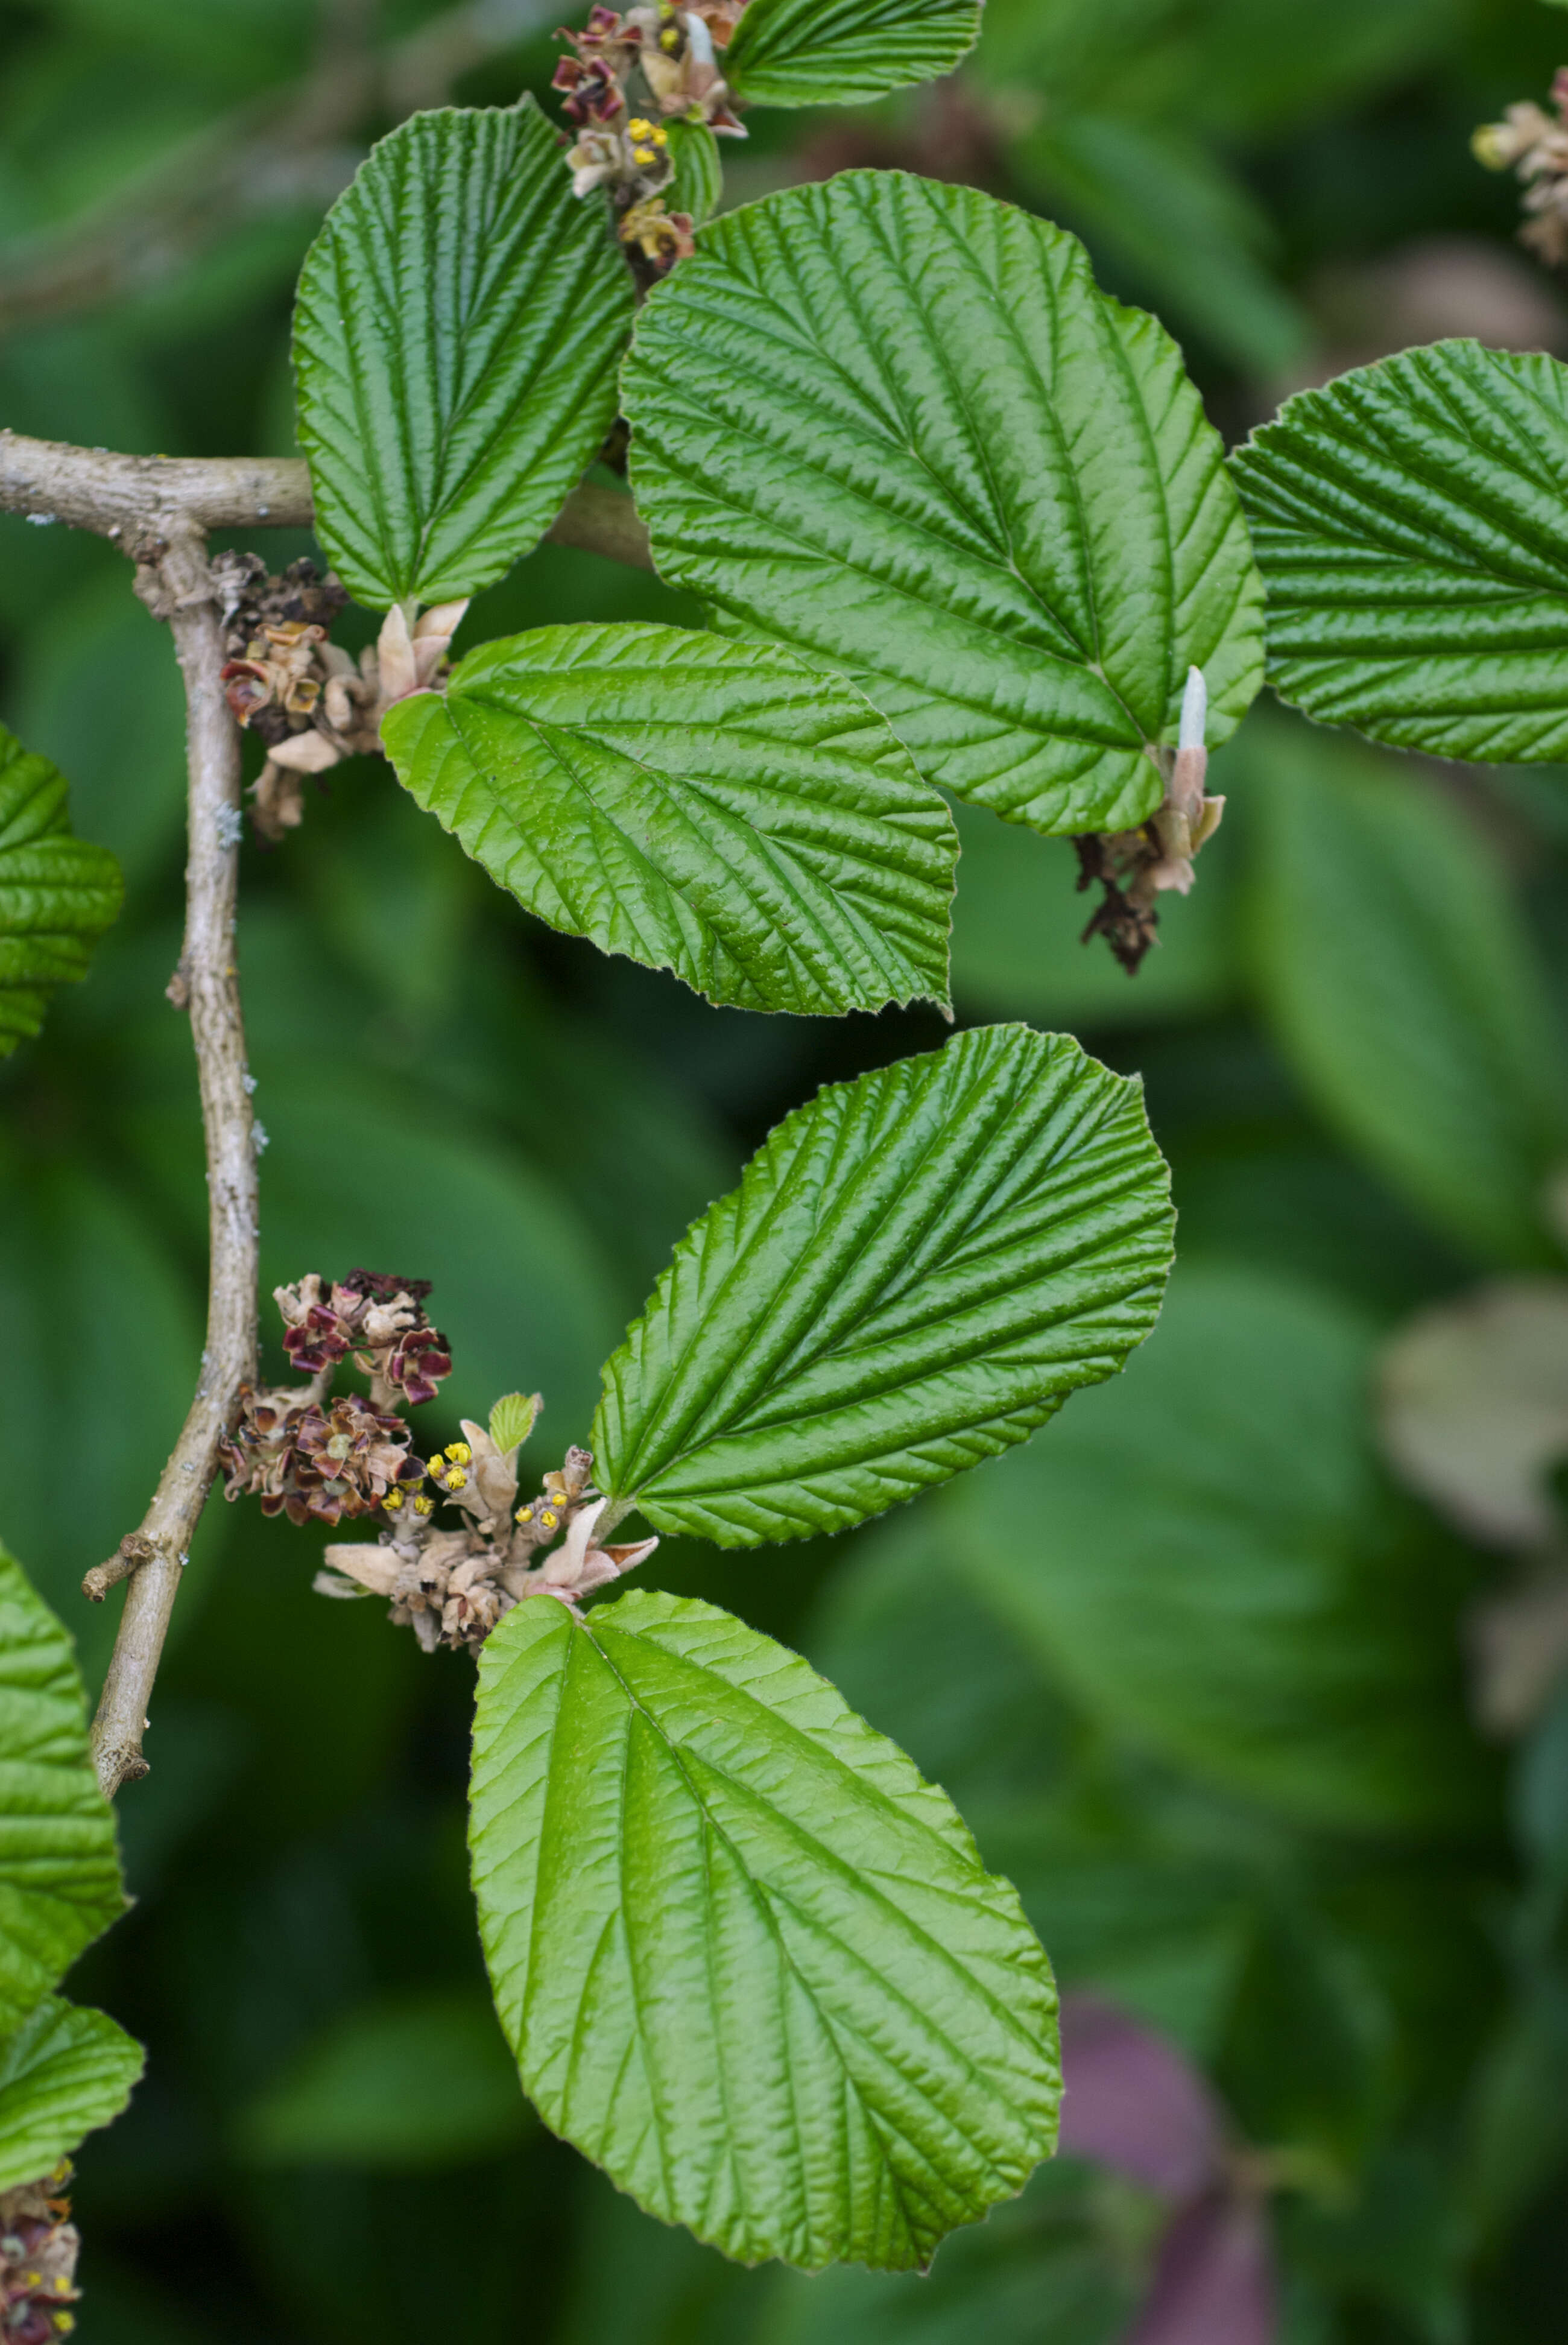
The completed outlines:
[[[1568,368],[1434,342],[1233,457],[1287,701],[1437,757],[1568,757]]]

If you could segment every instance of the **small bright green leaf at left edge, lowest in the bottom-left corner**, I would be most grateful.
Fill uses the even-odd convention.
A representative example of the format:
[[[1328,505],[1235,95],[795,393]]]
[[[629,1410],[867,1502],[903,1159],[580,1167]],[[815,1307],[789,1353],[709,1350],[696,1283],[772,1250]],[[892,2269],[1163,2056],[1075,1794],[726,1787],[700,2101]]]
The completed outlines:
[[[141,2045],[105,2012],[47,1996],[0,2045],[0,2190],[49,2174],[117,2118],[141,2071]]]

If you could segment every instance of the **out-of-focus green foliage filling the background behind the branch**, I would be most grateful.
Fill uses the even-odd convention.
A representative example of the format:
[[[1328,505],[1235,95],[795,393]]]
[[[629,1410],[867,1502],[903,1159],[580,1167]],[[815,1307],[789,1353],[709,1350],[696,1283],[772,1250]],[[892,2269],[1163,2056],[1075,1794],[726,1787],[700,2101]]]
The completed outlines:
[[[544,91],[553,23],[506,0],[2,0],[0,422],[288,450],[321,209],[410,106]],[[1538,0],[991,0],[949,84],[752,117],[729,197],[872,162],[1029,204],[1160,310],[1240,436],[1409,342],[1568,352],[1514,190],[1467,150],[1566,59]],[[544,549],[464,643],[565,617],[696,614]],[[199,1348],[197,1104],[162,992],[180,694],[94,539],[2,518],[0,631],[0,715],[129,882],[91,980],[0,1069],[0,1531],[96,1681],[113,1606],[75,1588],[141,1517]],[[1552,1501],[1545,1536],[1467,1543],[1392,1477],[1376,1391],[1413,1313],[1495,1278],[1561,1299],[1568,774],[1392,760],[1275,706],[1219,769],[1226,828],[1137,983],[1078,947],[1064,842],[961,816],[961,1020],[1069,1027],[1141,1072],[1174,1168],[1181,1266],[1125,1381],[888,1524],[668,1543],[652,1576],[809,1651],[949,1787],[1064,1984],[1202,2064],[1275,2183],[1289,2345],[1554,2345],[1563,1538]],[[429,1437],[541,1386],[539,1463],[762,1133],[945,1032],[715,1011],[605,961],[373,762],[246,849],[241,964],[265,1285],[434,1278],[457,1372]],[[1533,1470],[1556,1449],[1568,1400]],[[73,1993],[145,2035],[150,2073],[80,2160],[87,2345],[1125,2333],[1146,2242],[1092,2176],[959,2237],[930,2282],[804,2282],[724,2265],[544,2136],[464,1878],[471,1663],[319,1602],[314,1559],[209,1508],[152,1775],[122,1799],[136,1909]],[[1509,1656],[1523,1693],[1498,1686]]]

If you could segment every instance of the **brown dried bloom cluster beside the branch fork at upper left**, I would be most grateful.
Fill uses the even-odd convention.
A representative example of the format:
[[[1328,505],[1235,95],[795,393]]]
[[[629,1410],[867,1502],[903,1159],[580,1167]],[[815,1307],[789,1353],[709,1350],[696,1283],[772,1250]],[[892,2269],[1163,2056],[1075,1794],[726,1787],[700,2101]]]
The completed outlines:
[[[387,612],[359,659],[328,640],[345,589],[309,560],[270,577],[260,553],[220,553],[213,584],[223,607],[227,661],[223,689],[239,725],[267,743],[251,786],[251,821],[281,840],[305,814],[305,774],[342,757],[380,755],[380,720],[391,701],[431,689],[466,603],[441,603],[415,619]]]

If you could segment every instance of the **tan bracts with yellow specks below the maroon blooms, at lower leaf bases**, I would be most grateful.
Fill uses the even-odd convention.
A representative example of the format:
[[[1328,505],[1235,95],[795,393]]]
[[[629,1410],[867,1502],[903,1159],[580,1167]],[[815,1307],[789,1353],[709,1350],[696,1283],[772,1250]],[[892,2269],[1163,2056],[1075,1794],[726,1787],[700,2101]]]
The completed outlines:
[[[403,1503],[394,1494],[387,1501],[384,1513],[394,1520],[377,1545],[328,1548],[319,1592],[387,1597],[391,1620],[413,1627],[431,1653],[441,1644],[483,1644],[527,1597],[555,1597],[577,1609],[595,1588],[635,1571],[659,1541],[623,1548],[598,1541],[607,1501],[593,1489],[586,1449],[567,1449],[565,1463],[546,1473],[544,1489],[516,1503],[523,1440],[506,1442],[506,1407],[497,1402],[488,1428],[464,1419],[464,1437],[436,1452],[427,1468],[434,1498]],[[530,1426],[537,1414],[534,1395]],[[443,1503],[455,1522],[431,1520]]]

